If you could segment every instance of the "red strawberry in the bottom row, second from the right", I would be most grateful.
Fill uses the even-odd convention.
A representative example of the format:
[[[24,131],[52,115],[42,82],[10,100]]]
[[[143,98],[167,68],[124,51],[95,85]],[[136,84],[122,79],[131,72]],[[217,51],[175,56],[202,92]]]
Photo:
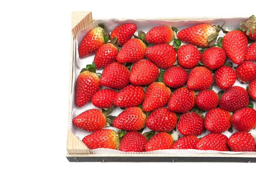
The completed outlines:
[[[199,140],[195,145],[195,149],[228,151],[227,136],[221,133],[209,133]]]

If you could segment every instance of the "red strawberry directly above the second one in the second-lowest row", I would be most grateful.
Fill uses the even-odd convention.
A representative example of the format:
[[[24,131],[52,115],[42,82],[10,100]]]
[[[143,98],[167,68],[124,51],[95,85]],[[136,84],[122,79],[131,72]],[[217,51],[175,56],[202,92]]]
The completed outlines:
[[[138,85],[128,85],[118,92],[114,98],[114,105],[122,108],[139,106],[145,97],[143,88]]]

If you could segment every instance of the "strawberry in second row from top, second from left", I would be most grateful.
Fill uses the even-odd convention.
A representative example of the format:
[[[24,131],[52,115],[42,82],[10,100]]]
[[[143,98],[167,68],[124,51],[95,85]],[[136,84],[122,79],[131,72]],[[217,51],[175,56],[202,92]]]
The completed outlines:
[[[116,56],[118,62],[137,62],[145,57],[146,45],[140,39],[133,38],[125,42]]]

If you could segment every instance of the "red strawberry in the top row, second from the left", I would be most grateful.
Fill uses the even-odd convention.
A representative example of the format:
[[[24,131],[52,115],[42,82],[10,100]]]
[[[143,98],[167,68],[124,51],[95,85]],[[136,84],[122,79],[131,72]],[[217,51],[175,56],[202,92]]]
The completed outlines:
[[[110,40],[116,37],[120,45],[124,45],[125,42],[131,39],[136,30],[137,26],[134,23],[122,24],[111,31]]]

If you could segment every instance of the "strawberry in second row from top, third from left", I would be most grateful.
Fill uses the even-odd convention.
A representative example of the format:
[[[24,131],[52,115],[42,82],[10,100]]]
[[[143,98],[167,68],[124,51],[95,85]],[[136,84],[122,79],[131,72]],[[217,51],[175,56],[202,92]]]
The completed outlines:
[[[148,47],[145,50],[145,56],[159,68],[170,68],[176,60],[176,51],[172,45],[159,44]]]

